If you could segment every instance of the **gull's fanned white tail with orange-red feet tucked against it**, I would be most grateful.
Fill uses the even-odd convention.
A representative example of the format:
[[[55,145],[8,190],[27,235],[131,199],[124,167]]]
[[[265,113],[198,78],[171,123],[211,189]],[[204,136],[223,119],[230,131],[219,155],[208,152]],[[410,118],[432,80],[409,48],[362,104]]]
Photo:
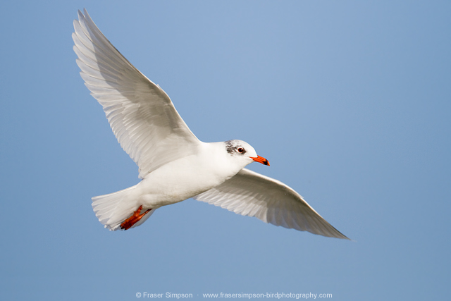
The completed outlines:
[[[97,219],[110,231],[128,230],[140,226],[154,213],[155,209],[149,209],[140,214],[142,207],[137,208],[135,202],[130,202],[129,195],[136,188],[130,188],[99,195],[92,198],[92,208]]]

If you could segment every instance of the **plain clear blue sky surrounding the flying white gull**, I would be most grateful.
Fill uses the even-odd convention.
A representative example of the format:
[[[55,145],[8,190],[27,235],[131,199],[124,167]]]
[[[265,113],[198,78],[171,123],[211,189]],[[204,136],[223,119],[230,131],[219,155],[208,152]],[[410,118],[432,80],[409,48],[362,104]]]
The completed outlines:
[[[86,7],[205,142],[241,139],[354,241],[188,199],[109,232],[138,183],[72,50]],[[445,300],[450,1],[2,1],[0,299],[331,293]],[[199,295],[199,296],[197,296]]]

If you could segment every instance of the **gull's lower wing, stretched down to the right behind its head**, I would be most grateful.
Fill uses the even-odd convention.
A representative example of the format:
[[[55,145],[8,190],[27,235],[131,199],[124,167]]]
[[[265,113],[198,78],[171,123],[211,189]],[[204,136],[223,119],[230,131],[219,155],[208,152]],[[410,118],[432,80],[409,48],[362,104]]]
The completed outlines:
[[[349,239],[317,214],[295,190],[246,168],[194,199],[276,226]]]

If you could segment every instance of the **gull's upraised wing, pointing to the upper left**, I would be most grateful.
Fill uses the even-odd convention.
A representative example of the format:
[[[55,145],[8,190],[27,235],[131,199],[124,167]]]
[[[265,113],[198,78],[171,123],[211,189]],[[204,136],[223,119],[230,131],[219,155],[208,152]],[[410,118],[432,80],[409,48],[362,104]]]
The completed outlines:
[[[72,34],[80,75],[104,107],[121,147],[140,168],[140,178],[196,152],[200,141],[168,95],[140,73],[89,17],[78,11]]]

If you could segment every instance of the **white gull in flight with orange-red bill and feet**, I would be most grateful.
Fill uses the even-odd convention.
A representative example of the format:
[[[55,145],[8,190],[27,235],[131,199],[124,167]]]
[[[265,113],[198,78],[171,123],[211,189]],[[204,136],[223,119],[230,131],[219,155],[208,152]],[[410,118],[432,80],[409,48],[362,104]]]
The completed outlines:
[[[80,75],[141,179],[125,190],[92,197],[105,228],[135,228],[156,209],[193,198],[276,226],[349,239],[288,185],[245,168],[252,162],[269,166],[247,142],[197,139],[168,94],[125,59],[86,9],[78,11],[73,25]]]

